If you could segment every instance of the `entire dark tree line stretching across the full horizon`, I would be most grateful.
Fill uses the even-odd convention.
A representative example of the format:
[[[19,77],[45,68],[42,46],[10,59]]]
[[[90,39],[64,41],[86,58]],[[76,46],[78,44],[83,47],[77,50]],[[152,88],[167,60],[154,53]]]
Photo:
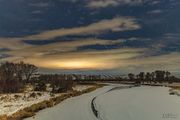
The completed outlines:
[[[180,82],[169,71],[156,70],[155,72],[140,72],[128,74],[127,78],[110,75],[77,75],[77,74],[39,74],[38,67],[24,62],[4,62],[0,65],[0,93],[21,92],[27,85],[36,91],[64,92],[71,90],[76,82],[94,81],[130,81],[135,83]]]

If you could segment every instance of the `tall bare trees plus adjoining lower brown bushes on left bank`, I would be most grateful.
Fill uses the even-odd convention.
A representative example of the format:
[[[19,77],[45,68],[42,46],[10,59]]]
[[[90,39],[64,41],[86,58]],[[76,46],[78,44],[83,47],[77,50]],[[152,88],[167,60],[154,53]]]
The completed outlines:
[[[45,91],[47,85],[51,92],[62,92],[72,89],[73,81],[70,75],[39,74],[38,67],[24,62],[5,62],[0,65],[0,93],[16,93],[26,86],[33,86],[36,91]]]

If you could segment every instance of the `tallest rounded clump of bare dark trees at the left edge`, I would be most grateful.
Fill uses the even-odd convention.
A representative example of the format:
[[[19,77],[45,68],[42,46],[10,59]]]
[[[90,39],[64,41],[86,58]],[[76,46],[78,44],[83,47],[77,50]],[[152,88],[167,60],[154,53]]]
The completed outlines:
[[[18,92],[25,85],[37,67],[31,64],[5,62],[0,66],[0,88],[3,92]],[[25,78],[25,81],[23,80]]]

